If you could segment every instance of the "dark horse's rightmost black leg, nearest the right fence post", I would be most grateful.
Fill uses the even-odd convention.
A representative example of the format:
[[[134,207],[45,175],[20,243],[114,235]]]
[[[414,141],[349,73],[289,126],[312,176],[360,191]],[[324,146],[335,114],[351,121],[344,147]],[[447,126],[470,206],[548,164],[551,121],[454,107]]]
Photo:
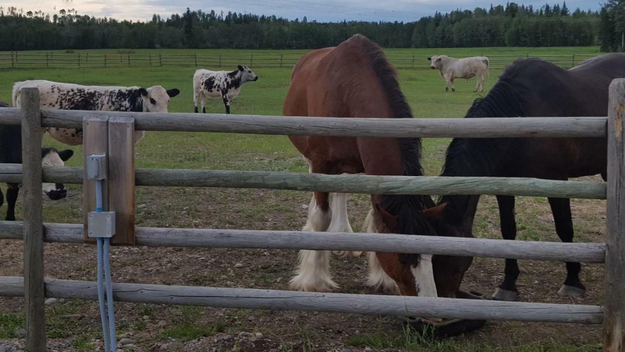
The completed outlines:
[[[556,222],[557,236],[562,242],[573,242],[573,220],[571,217],[571,200],[568,198],[549,198],[551,213]],[[579,262],[566,262],[566,280],[558,294],[579,297],[586,292],[586,287],[579,281],[581,271]]]

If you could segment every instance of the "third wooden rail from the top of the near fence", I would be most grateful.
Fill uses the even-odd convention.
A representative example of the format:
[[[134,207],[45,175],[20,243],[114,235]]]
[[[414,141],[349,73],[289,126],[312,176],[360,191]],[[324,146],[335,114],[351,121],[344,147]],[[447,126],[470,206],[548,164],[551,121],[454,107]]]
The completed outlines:
[[[0,239],[22,239],[22,223],[0,221]],[[44,224],[46,242],[77,243],[81,224]],[[214,247],[256,249],[311,249],[371,251],[448,256],[479,256],[538,261],[604,262],[601,243],[507,241],[462,237],[437,237],[352,232],[304,232],[277,230],[136,228],[137,246]],[[0,295],[1,296],[1,295]]]

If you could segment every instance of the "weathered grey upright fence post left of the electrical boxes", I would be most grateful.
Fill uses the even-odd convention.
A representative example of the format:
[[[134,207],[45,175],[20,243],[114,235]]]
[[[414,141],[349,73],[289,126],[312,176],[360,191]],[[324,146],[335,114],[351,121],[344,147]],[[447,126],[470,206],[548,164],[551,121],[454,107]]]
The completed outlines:
[[[39,90],[22,88],[22,165],[24,191],[24,299],[26,349],[46,352],[46,309],[43,281],[43,220],[41,199],[41,111]]]

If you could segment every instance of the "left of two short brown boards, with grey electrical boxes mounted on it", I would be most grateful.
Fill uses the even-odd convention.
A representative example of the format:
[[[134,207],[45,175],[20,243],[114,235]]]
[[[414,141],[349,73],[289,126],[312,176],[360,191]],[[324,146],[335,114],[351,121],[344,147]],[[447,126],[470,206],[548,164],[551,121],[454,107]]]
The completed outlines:
[[[85,116],[83,119],[83,165],[87,165],[87,158],[92,154],[108,153],[109,143],[109,118],[108,116]],[[95,239],[87,236],[89,212],[96,211],[96,185],[95,182],[87,180],[87,168],[85,167],[83,176],[83,238],[85,242],[95,243]],[[109,210],[108,179],[102,182],[102,204],[103,210]]]

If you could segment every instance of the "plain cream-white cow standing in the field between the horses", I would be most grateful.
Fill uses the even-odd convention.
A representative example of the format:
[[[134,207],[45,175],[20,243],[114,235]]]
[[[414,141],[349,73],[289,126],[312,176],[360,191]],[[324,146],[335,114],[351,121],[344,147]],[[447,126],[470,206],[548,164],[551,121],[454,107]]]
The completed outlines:
[[[473,56],[472,58],[455,59],[450,58],[447,55],[435,55],[427,60],[432,61],[430,68],[432,70],[439,70],[441,78],[445,80],[447,84],[445,91],[449,91],[449,85],[451,85],[451,91],[456,91],[456,84],[454,80],[456,78],[469,78],[477,77],[477,85],[473,91],[484,91],[484,75],[488,73],[488,58],[486,56]]]

